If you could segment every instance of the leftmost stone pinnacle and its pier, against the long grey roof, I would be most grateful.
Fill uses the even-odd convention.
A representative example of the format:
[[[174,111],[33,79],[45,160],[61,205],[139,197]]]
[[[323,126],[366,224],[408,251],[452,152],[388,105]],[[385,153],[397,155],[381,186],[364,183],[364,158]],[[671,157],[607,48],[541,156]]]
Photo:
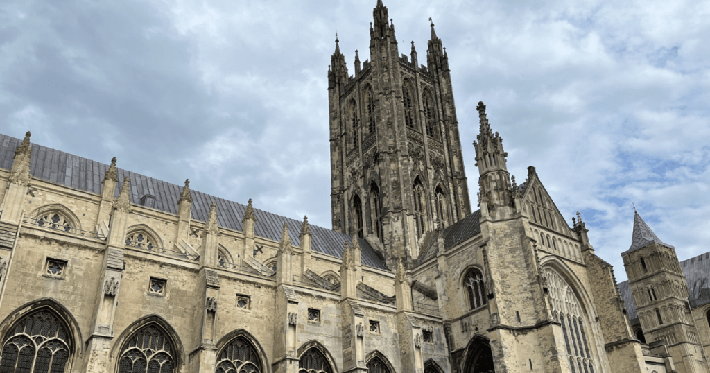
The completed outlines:
[[[32,147],[30,146],[30,131],[25,134],[22,144],[15,150],[15,158],[10,171],[10,183],[2,201],[2,215],[0,222],[18,226],[22,219],[23,201],[30,186],[30,158],[32,158]]]

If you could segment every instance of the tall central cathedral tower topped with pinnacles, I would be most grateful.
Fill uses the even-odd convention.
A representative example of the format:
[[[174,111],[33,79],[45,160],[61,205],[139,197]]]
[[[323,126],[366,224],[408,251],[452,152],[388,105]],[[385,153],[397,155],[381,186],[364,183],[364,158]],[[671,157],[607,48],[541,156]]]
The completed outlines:
[[[416,259],[431,232],[471,213],[449,60],[434,31],[427,66],[399,55],[378,0],[370,61],[349,75],[335,40],[328,71],[333,229],[367,239],[387,261]]]

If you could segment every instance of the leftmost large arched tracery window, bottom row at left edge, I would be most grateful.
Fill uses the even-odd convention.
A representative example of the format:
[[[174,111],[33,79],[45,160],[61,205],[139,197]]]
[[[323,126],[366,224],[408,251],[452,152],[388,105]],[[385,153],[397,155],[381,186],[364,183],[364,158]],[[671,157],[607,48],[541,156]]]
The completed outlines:
[[[62,373],[71,355],[69,328],[52,310],[44,309],[10,328],[0,355],[0,372]]]

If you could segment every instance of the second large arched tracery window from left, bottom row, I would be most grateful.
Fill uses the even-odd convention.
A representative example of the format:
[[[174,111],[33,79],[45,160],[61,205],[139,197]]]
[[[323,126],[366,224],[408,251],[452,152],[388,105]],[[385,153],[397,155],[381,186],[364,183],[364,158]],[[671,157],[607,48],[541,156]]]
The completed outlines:
[[[146,325],[124,343],[119,373],[174,373],[175,347],[157,325]]]

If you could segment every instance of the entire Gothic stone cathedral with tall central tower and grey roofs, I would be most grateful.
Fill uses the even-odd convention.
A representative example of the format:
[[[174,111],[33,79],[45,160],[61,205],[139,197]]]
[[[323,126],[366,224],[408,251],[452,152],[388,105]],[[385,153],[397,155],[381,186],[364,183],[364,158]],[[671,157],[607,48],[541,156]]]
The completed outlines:
[[[472,211],[434,25],[421,63],[381,0],[369,32],[327,72],[332,229],[0,134],[0,373],[710,373],[710,253],[636,213],[617,283],[483,102]]]

